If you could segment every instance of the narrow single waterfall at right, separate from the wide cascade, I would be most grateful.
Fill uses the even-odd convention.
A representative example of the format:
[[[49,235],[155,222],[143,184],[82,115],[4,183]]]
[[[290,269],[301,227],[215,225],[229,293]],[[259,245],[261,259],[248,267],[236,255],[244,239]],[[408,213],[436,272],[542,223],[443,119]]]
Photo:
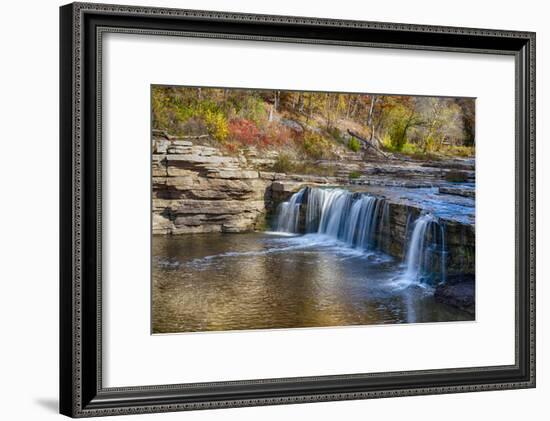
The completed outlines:
[[[443,224],[430,213],[418,217],[407,246],[405,278],[420,283],[445,282],[445,247]]]

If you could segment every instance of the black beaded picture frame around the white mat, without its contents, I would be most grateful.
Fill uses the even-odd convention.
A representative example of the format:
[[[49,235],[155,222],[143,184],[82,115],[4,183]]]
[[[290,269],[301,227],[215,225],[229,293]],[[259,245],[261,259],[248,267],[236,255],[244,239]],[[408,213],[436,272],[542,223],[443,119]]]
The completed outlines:
[[[535,34],[73,3],[60,10],[60,412],[72,417],[535,386]],[[516,63],[515,364],[105,388],[101,36],[124,32],[512,55]]]

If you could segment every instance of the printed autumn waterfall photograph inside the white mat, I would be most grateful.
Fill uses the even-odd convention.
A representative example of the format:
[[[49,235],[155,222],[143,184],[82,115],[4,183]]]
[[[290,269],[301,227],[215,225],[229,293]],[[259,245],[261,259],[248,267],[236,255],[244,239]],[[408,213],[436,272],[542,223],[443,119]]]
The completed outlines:
[[[150,93],[153,334],[475,321],[475,98]]]

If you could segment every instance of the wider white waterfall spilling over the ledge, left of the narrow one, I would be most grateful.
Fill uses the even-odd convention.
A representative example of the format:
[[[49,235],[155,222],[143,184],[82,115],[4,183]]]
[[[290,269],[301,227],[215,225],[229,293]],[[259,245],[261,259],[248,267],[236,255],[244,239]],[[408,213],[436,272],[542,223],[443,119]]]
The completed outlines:
[[[365,250],[378,249],[388,240],[389,204],[382,198],[343,189],[304,188],[279,205],[276,230],[301,232],[300,212],[307,233],[324,234]]]

